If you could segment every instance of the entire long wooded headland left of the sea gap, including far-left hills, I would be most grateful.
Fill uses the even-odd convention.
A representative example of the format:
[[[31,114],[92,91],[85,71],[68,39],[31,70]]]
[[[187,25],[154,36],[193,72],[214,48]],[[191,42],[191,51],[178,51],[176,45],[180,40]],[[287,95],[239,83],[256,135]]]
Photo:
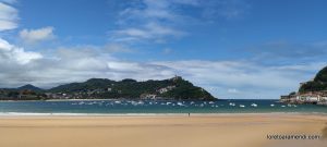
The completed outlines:
[[[50,89],[41,89],[31,84],[0,89],[0,100],[47,99],[216,100],[217,98],[181,76],[144,82],[132,78],[119,82],[108,78],[90,78],[83,83],[70,83]]]

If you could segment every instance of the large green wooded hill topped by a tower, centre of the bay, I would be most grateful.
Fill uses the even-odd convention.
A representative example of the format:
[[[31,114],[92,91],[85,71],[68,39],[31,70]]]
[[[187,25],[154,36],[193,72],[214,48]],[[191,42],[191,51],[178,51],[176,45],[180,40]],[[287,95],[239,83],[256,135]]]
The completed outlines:
[[[90,78],[83,83],[71,83],[53,87],[48,93],[65,93],[72,97],[85,98],[170,98],[214,100],[205,89],[194,86],[180,76],[162,79],[137,82],[126,78],[120,82],[107,78]]]

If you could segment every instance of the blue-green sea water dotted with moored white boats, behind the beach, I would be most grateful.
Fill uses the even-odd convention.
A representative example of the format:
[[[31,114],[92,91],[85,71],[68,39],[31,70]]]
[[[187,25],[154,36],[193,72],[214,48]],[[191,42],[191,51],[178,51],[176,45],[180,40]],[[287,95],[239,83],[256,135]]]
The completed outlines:
[[[24,113],[269,113],[301,112],[327,114],[327,107],[284,105],[278,100],[219,101],[141,101],[141,100],[78,100],[78,101],[1,101],[0,114]]]

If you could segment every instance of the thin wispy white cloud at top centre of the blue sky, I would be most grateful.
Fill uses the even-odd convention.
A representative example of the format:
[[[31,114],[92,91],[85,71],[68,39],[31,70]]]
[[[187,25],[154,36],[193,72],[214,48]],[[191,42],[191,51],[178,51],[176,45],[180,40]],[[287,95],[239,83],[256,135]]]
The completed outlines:
[[[194,0],[141,0],[130,4],[119,13],[119,28],[110,32],[111,40],[165,42],[185,36],[178,24],[191,17],[181,14],[175,7],[195,3]]]

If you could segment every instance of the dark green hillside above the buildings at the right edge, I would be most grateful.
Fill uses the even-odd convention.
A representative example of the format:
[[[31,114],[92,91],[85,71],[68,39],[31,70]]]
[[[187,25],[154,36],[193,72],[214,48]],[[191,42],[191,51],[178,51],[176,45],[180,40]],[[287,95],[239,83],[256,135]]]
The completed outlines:
[[[313,81],[303,83],[299,93],[327,90],[327,66],[322,69]]]

